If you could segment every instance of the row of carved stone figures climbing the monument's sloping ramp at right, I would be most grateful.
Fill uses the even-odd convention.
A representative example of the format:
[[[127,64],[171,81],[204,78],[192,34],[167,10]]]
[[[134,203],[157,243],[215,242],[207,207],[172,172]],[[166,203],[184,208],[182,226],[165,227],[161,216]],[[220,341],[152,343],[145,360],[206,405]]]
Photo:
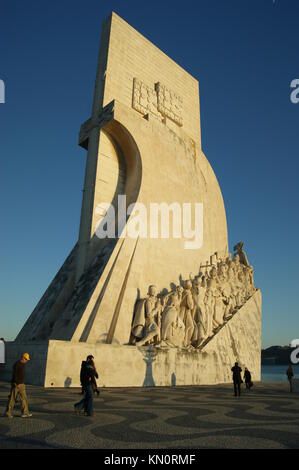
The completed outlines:
[[[231,255],[205,266],[205,273],[183,281],[174,290],[158,296],[149,287],[148,297],[137,302],[133,344],[160,347],[199,348],[253,295],[253,268],[243,251],[243,242]]]

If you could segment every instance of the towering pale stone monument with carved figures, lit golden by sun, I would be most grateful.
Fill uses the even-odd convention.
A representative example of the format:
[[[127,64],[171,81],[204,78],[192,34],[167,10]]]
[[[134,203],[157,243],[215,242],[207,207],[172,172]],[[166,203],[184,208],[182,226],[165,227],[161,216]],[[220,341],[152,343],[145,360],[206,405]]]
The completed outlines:
[[[233,257],[228,250],[222,194],[201,148],[198,81],[115,13],[103,24],[79,145],[78,242],[7,344],[7,373],[26,350],[29,382],[45,387],[79,386],[88,354],[100,386],[228,382],[236,360],[260,380],[261,293],[243,242]],[[186,222],[181,209],[197,203],[202,225],[189,214],[189,235],[157,235],[150,224],[152,205],[161,220],[168,210]],[[132,237],[136,209],[149,212]]]

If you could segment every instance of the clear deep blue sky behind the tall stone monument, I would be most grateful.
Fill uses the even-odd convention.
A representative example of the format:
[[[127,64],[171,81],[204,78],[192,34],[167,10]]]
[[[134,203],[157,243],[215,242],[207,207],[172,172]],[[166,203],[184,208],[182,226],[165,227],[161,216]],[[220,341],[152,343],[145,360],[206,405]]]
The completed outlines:
[[[263,293],[263,346],[299,337],[297,0],[2,2],[0,337],[78,237],[102,21],[114,10],[199,80],[203,149]]]

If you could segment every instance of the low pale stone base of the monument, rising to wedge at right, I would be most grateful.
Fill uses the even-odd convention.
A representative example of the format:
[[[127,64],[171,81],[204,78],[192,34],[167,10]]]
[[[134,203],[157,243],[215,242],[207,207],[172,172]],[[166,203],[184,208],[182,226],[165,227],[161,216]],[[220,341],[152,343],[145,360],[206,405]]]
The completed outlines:
[[[232,381],[238,361],[253,381],[261,378],[261,293],[259,290],[223,325],[202,349],[50,340],[7,343],[2,379],[9,380],[13,363],[23,352],[31,361],[26,382],[45,387],[80,387],[82,360],[92,354],[100,387],[212,385]]]

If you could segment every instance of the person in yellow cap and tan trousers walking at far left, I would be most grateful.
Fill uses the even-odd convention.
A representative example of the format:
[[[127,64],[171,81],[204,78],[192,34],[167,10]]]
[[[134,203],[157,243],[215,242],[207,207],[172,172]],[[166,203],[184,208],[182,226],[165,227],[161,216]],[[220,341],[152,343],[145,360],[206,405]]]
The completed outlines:
[[[8,399],[7,410],[5,416],[13,418],[13,408],[15,406],[18,396],[21,398],[22,418],[29,418],[32,413],[29,413],[28,400],[25,387],[26,363],[30,361],[28,353],[24,353],[21,358],[15,362],[13,366],[13,374],[11,380],[11,391]]]

